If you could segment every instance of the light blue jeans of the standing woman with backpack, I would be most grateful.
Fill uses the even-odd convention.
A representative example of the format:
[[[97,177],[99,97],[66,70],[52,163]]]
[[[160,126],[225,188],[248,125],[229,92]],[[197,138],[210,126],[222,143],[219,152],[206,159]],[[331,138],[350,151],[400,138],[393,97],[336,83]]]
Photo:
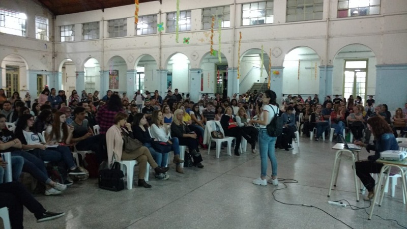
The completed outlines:
[[[267,157],[271,162],[272,176],[277,176],[277,159],[275,155],[274,146],[276,145],[277,137],[271,137],[267,133],[266,128],[261,128],[258,131],[258,146],[260,148],[260,160],[261,160],[261,177],[267,176]]]

